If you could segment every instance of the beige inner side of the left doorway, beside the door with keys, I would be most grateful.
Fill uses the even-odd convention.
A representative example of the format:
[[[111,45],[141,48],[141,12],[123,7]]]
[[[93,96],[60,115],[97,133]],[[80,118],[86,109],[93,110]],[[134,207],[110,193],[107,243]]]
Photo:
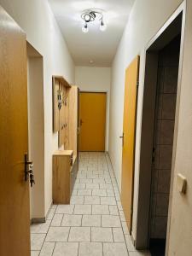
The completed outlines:
[[[28,55],[27,55],[28,56]],[[44,219],[44,67],[42,57],[27,57],[29,160],[35,185],[30,189],[30,218]]]

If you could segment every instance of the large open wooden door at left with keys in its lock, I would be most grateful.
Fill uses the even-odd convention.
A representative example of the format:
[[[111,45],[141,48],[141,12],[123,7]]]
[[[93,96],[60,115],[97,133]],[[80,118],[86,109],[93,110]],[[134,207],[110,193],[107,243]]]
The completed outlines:
[[[0,7],[0,255],[30,255],[26,35]]]

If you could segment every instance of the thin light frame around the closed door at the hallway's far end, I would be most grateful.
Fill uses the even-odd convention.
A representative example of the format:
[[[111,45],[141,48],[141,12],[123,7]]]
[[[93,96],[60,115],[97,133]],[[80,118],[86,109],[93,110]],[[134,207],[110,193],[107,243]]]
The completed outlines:
[[[106,94],[106,119],[105,119],[105,152],[108,152],[108,137],[109,137],[109,103],[110,103],[110,91],[109,90],[79,90],[81,93],[105,93]],[[79,100],[80,102],[80,100]]]

